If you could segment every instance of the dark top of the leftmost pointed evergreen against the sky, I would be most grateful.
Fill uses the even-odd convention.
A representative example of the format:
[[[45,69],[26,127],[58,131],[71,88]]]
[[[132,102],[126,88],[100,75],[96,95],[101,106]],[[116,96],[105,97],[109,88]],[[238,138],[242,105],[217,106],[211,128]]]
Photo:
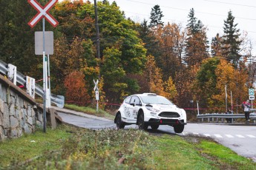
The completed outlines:
[[[158,25],[163,26],[163,12],[160,10],[160,6],[156,4],[153,8],[151,8],[151,16],[150,16],[150,27],[157,27]]]

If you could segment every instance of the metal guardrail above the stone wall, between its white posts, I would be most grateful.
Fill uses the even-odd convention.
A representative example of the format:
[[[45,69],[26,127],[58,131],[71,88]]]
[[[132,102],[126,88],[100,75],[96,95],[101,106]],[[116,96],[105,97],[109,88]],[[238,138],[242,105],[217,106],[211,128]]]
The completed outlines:
[[[0,72],[4,75],[7,75],[7,72],[8,72],[7,66],[8,64],[0,60]],[[19,84],[22,84],[23,86],[26,86],[26,76],[22,75],[22,73],[18,71],[17,71],[17,82]],[[38,84],[36,84],[35,91],[37,95],[43,98],[44,91],[42,86],[39,86]],[[59,108],[63,108],[65,103],[65,97],[63,95],[54,95],[53,93],[50,93],[50,101],[52,103],[55,103],[56,106],[58,106]]]

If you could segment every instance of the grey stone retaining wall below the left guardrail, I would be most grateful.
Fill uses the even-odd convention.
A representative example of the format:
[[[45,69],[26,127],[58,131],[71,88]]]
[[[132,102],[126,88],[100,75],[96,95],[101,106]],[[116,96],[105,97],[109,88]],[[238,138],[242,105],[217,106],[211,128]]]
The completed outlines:
[[[0,141],[34,132],[42,120],[36,101],[0,75]]]

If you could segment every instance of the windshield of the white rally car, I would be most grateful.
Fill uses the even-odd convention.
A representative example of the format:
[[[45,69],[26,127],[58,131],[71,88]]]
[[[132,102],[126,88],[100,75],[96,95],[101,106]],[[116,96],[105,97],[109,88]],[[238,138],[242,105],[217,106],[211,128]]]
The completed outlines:
[[[140,96],[143,103],[173,105],[167,98],[157,95]]]

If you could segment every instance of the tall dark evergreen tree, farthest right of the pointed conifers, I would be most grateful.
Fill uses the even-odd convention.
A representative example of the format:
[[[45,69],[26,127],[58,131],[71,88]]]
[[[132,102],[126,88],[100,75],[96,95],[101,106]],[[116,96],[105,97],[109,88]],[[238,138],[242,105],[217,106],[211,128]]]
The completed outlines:
[[[240,44],[242,41],[239,40],[239,29],[236,28],[237,24],[234,24],[234,16],[232,11],[229,11],[228,18],[224,21],[224,35],[223,35],[223,56],[227,61],[232,62],[237,67],[240,55]]]

